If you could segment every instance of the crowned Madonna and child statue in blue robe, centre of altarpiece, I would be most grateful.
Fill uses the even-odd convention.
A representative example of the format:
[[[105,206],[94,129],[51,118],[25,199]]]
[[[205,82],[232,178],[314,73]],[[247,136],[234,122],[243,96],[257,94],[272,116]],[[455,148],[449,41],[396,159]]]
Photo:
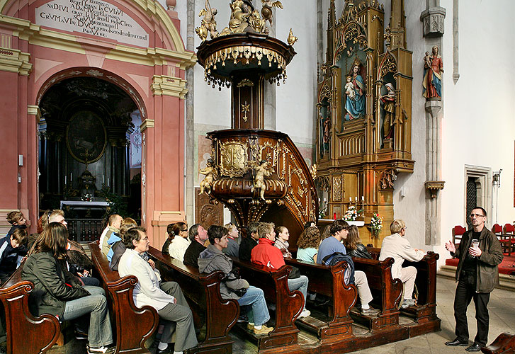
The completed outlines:
[[[345,110],[344,120],[349,121],[362,118],[365,115],[365,81],[362,76],[363,66],[356,58],[354,60],[351,72],[347,77],[345,85]],[[350,85],[352,84],[352,86]],[[343,129],[342,129],[343,130]]]

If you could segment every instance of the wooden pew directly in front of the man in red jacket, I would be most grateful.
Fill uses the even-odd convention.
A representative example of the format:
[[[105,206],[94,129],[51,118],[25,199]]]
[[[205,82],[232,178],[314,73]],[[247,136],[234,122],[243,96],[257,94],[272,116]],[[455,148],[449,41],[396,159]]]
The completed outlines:
[[[356,285],[345,285],[344,272],[346,262],[327,266],[317,263],[298,261],[285,258],[285,263],[299,268],[302,275],[310,280],[307,285],[309,292],[316,292],[330,298],[329,319],[315,319],[312,316],[298,319],[297,323],[315,331],[321,341],[341,341],[353,336],[352,319],[349,316],[351,307],[356,304],[358,290]]]

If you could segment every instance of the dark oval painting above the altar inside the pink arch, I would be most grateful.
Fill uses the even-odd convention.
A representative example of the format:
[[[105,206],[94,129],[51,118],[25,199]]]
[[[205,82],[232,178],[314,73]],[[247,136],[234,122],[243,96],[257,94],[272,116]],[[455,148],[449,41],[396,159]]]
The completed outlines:
[[[106,149],[106,128],[91,110],[81,110],[69,120],[66,144],[69,153],[82,164],[98,161]]]

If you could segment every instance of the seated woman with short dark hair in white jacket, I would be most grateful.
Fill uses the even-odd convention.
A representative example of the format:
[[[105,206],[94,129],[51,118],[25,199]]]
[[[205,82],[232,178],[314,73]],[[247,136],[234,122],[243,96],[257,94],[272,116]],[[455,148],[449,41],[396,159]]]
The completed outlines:
[[[132,227],[123,235],[123,244],[127,249],[118,263],[120,277],[135,275],[138,282],[132,292],[137,307],[150,306],[159,314],[159,324],[164,325],[163,333],[157,346],[157,353],[169,353],[168,343],[171,335],[176,333],[174,353],[197,345],[193,315],[176,282],[162,282],[158,270],[154,270],[142,253],[149,249],[149,238],[144,228]]]

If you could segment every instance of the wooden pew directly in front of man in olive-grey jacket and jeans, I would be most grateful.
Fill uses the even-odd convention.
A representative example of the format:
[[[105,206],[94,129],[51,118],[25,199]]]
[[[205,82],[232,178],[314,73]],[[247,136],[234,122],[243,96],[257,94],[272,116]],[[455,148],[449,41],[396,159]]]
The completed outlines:
[[[273,331],[267,336],[257,337],[260,353],[269,350],[274,352],[278,348],[298,343],[299,330],[295,327],[304,306],[304,297],[298,290],[290,292],[288,288],[289,265],[283,265],[278,270],[257,265],[239,258],[231,257],[234,266],[239,267],[239,273],[250,285],[263,290],[268,303],[276,304],[276,321]]]

